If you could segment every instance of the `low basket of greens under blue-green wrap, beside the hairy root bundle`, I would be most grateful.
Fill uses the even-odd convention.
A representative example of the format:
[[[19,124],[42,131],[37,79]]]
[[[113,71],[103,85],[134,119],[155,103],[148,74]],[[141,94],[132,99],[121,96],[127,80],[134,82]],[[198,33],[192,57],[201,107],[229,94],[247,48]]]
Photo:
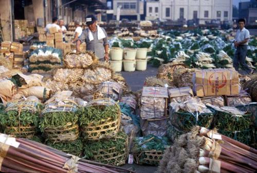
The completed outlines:
[[[137,164],[158,165],[170,145],[168,138],[148,135],[134,139],[133,156]]]

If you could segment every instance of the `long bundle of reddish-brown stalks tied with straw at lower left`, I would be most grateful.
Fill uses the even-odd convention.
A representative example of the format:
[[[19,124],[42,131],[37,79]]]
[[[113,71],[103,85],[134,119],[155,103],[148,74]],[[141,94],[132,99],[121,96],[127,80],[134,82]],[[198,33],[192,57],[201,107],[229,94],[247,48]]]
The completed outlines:
[[[34,141],[0,134],[3,172],[133,172],[67,155]],[[11,141],[11,142],[10,142]]]

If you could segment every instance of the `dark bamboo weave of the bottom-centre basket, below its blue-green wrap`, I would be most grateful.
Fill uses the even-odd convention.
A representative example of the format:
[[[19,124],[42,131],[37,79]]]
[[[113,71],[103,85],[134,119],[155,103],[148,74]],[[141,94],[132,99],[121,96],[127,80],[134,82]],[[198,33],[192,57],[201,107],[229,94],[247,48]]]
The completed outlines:
[[[161,150],[145,150],[134,154],[137,164],[158,165],[162,159],[163,152]]]

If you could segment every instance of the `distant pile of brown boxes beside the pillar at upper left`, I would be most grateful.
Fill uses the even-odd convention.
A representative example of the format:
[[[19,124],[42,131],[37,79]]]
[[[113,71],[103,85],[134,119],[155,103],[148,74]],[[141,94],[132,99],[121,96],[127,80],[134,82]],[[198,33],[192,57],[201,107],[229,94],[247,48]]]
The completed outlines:
[[[20,39],[34,33],[34,22],[28,20],[14,20],[15,39]]]

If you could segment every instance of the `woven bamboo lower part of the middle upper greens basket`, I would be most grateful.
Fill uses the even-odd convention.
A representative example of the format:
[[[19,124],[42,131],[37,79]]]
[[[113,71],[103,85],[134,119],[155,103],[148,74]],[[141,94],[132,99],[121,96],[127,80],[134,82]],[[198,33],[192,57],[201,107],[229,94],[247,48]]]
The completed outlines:
[[[79,138],[78,124],[67,123],[66,126],[45,128],[46,138],[51,142],[69,142]]]

